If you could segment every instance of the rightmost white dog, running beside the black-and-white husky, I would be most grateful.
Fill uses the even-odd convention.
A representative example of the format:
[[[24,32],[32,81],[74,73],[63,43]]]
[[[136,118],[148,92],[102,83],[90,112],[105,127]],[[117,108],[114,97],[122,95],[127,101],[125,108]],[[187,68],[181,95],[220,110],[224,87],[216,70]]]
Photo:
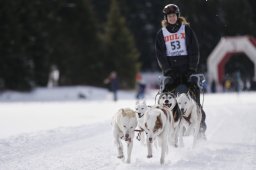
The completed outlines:
[[[180,132],[179,132],[179,145],[184,146],[183,143],[183,133],[187,135],[193,134],[193,147],[196,145],[200,123],[202,119],[202,112],[200,107],[196,104],[194,99],[191,98],[189,93],[178,94],[177,102],[182,113],[182,118],[180,122]]]

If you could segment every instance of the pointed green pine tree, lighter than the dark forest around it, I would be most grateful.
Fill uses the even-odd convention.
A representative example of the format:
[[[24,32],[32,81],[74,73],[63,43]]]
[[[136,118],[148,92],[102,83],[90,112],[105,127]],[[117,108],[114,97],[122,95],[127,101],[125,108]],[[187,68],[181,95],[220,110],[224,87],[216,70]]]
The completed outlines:
[[[125,88],[133,88],[135,74],[139,69],[139,52],[134,38],[127,28],[125,18],[121,15],[117,0],[111,1],[106,24],[105,36],[105,70],[115,70],[120,84]]]

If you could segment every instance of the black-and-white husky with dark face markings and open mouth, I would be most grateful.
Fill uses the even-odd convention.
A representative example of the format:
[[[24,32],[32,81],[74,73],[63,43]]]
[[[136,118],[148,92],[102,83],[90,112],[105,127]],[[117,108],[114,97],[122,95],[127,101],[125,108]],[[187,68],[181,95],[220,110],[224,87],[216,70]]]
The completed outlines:
[[[170,114],[170,143],[177,147],[178,146],[178,132],[179,124],[181,120],[181,112],[178,107],[176,96],[173,93],[161,93],[158,99],[158,104],[168,111]]]

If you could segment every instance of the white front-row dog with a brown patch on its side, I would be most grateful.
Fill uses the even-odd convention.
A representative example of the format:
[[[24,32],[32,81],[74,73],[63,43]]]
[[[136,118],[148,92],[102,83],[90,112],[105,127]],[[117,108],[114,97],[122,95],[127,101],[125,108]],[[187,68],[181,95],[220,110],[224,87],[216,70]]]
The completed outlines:
[[[161,147],[160,163],[164,163],[168,151],[169,115],[159,106],[152,106],[145,113],[145,132],[147,134],[148,158],[152,157],[152,143],[157,140]]]

